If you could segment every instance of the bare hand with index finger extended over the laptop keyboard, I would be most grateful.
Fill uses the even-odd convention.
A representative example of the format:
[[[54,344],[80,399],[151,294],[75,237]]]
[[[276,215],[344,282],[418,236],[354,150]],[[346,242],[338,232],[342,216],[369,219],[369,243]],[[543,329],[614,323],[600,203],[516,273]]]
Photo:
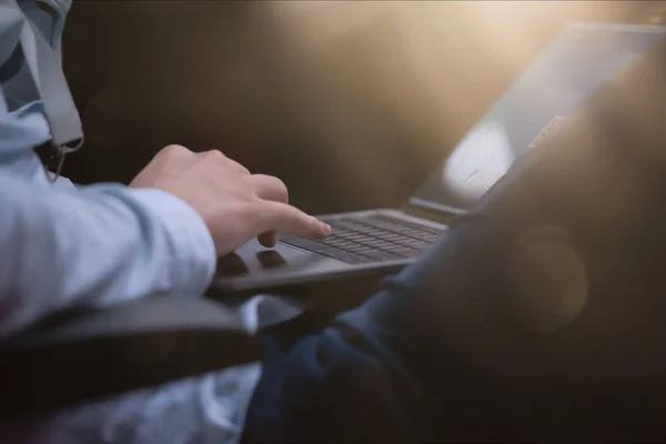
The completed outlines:
[[[254,236],[274,246],[276,233],[325,238],[331,228],[290,205],[284,183],[251,174],[220,151],[194,153],[169,145],[134,178],[130,186],[171,193],[196,211],[211,232],[218,255],[232,253]]]

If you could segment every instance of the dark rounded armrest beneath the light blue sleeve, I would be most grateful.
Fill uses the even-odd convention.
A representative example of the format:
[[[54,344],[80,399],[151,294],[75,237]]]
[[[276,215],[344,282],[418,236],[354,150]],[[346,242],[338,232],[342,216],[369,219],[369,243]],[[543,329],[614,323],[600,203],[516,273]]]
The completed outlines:
[[[0,422],[260,357],[258,337],[209,299],[62,313],[0,342]]]

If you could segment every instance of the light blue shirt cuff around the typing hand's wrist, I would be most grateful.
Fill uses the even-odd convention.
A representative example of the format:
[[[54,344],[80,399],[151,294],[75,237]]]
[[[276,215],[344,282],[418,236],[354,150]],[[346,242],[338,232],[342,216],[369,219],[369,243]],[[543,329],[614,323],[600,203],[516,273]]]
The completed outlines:
[[[185,201],[161,190],[131,189],[130,192],[163,224],[171,256],[179,264],[171,271],[172,292],[205,293],[215,273],[216,251],[199,213]]]

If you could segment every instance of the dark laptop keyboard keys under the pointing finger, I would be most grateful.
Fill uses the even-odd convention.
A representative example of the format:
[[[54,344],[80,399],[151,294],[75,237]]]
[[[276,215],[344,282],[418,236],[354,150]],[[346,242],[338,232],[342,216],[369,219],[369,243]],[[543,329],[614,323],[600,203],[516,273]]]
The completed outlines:
[[[285,236],[281,242],[357,264],[415,258],[444,232],[386,215],[350,216],[326,222],[333,229],[327,239],[313,241]]]

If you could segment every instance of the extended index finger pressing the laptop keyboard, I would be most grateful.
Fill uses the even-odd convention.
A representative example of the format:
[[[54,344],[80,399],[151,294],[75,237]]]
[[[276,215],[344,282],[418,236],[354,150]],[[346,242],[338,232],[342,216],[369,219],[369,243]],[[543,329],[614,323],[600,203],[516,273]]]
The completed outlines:
[[[263,221],[261,232],[274,230],[279,233],[309,239],[327,238],[332,232],[329,224],[282,202],[264,201],[261,211],[263,212],[263,218],[260,218]]]

